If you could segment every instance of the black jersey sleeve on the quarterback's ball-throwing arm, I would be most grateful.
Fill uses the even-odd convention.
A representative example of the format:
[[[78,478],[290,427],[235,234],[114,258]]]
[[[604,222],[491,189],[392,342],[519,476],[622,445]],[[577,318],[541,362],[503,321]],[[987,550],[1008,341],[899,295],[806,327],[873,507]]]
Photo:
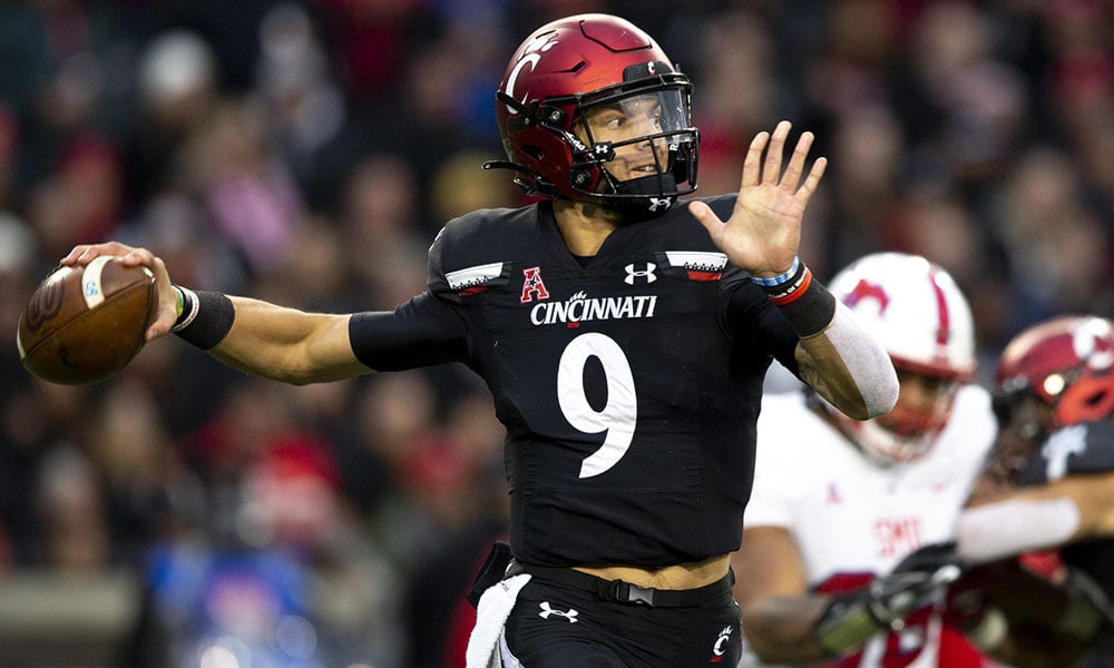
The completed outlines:
[[[352,352],[375,371],[467,362],[465,321],[441,269],[443,234],[429,249],[428,289],[394,311],[358,313],[349,321]]]

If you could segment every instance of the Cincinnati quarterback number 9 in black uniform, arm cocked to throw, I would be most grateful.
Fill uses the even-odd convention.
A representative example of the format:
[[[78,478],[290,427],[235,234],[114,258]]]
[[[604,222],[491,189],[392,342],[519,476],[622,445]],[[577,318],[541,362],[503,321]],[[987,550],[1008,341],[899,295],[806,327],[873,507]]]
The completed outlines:
[[[737,196],[677,204],[696,188],[690,89],[625,20],[536,30],[498,91],[508,161],[491,166],[544,199],[450,222],[429,252],[428,289],[393,312],[194,293],[148,250],[115,243],[63,262],[114,254],[153,267],[150,337],[173,330],[270,379],[446,362],[479,373],[507,428],[514,561],[492,558],[470,666],[731,665],[729,553],[769,364],[858,419],[893,405],[897,379],[797,256],[825,166],[807,169],[811,134],[788,161],[789,122],[759,134]]]

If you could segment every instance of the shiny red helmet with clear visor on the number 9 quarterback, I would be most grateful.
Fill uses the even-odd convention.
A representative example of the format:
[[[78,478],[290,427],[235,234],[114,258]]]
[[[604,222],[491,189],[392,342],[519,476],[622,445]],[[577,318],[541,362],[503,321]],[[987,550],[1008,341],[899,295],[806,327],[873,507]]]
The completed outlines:
[[[580,14],[515,52],[496,116],[515,183],[529,195],[654,215],[696,189],[700,143],[688,77],[633,23]]]

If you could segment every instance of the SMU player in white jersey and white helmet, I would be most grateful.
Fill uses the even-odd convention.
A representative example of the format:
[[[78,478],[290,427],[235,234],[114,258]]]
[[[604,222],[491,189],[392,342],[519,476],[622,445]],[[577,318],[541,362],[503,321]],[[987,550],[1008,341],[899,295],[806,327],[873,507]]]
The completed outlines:
[[[995,436],[990,395],[970,382],[967,299],[941,267],[901,253],[860,258],[831,291],[881,337],[900,394],[867,422],[811,390],[763,401],[734,557],[746,640],[770,664],[977,666],[931,605],[958,571],[918,552],[954,538]],[[903,596],[916,577],[921,596]]]

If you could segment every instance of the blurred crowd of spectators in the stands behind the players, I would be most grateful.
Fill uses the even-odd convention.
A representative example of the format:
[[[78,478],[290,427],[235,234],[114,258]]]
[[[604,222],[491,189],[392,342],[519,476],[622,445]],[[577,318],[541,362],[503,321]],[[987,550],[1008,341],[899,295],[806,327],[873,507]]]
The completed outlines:
[[[0,331],[78,243],[306,310],[420,292],[437,230],[526,200],[494,91],[541,23],[625,16],[695,82],[701,194],[751,137],[818,135],[804,256],[924,254],[1000,346],[1114,313],[1111,0],[9,0],[0,3]],[[128,572],[130,666],[458,666],[505,529],[501,428],[446,366],[320,386],[180,341],[50,385],[0,355],[0,581]],[[2,635],[2,630],[0,630]],[[254,661],[254,662],[253,662]]]

